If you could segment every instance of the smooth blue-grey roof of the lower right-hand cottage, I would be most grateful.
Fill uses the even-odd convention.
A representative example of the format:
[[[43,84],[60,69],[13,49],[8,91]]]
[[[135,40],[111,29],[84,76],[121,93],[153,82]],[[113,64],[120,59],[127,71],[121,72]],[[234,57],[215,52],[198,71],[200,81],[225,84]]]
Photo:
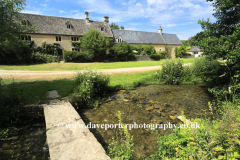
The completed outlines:
[[[167,34],[143,31],[130,31],[130,30],[112,30],[114,39],[121,36],[122,40],[127,43],[137,44],[179,44],[182,42],[175,34]]]

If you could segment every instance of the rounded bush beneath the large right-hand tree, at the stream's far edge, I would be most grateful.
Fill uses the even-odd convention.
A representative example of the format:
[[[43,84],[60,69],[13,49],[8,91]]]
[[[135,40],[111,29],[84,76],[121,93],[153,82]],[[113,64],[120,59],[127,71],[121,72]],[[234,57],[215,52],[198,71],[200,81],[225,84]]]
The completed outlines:
[[[228,75],[225,79],[219,77],[224,73],[224,67],[217,60],[209,60],[207,57],[195,58],[192,67],[193,74],[201,77],[204,82],[220,84],[228,79]]]

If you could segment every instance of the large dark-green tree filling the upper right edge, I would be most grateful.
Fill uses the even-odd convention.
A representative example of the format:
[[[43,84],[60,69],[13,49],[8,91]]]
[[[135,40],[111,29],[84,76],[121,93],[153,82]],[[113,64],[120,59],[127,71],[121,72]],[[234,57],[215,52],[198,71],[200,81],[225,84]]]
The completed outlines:
[[[203,38],[199,45],[210,59],[227,60],[225,75],[237,76],[240,70],[240,3],[239,0],[207,0],[212,2],[216,22],[199,20]]]

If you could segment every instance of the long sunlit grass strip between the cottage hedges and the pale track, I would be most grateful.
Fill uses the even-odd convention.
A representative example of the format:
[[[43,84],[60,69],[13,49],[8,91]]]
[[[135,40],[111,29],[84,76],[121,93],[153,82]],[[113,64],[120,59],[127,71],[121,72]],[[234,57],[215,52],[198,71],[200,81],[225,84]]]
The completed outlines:
[[[130,62],[94,62],[94,63],[46,63],[33,65],[0,65],[4,70],[26,70],[26,71],[70,71],[84,69],[114,69],[144,66],[158,66],[165,60],[160,61],[130,61]],[[194,58],[183,59],[183,63],[191,63]]]

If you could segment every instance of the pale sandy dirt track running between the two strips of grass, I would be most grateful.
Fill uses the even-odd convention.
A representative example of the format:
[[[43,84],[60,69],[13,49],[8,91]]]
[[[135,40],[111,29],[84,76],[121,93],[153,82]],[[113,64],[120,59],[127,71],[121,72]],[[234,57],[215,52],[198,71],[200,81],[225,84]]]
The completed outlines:
[[[185,63],[184,66],[189,66],[191,63]],[[161,66],[150,66],[150,67],[133,67],[133,68],[117,68],[117,69],[99,69],[98,71],[104,74],[131,74],[140,73],[146,71],[154,71],[161,69]],[[64,79],[73,78],[78,72],[76,71],[22,71],[22,70],[0,70],[0,77],[4,79]]]

